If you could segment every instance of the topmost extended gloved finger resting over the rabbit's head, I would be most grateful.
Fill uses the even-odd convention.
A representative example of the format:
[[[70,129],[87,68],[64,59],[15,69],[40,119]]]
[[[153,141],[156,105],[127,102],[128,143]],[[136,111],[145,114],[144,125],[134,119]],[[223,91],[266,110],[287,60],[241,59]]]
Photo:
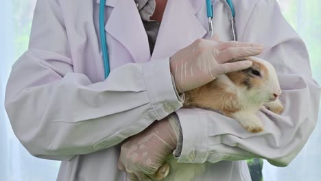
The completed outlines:
[[[223,64],[235,58],[257,56],[262,53],[262,51],[263,47],[231,47],[223,51],[219,51],[218,55],[215,58],[219,64]]]

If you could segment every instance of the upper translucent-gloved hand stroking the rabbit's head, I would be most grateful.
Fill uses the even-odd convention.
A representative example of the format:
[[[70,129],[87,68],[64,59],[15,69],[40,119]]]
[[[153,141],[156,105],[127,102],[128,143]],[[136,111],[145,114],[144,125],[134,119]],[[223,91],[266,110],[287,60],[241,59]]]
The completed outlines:
[[[256,56],[262,53],[263,45],[241,42],[222,42],[215,34],[211,39],[199,39],[181,49],[170,59],[178,92],[198,88],[219,75],[251,67],[252,62],[228,62],[235,58]]]

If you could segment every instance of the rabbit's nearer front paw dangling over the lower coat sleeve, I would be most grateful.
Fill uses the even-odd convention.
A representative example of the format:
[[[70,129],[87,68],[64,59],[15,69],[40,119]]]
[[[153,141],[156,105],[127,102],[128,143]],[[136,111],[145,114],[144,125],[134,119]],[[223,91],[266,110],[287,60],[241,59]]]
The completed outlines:
[[[249,132],[263,131],[263,124],[253,112],[235,112],[233,117]]]

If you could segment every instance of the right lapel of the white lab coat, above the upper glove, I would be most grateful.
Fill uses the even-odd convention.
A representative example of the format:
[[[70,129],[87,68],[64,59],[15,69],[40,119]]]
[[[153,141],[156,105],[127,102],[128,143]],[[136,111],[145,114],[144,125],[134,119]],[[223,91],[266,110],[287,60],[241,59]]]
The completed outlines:
[[[195,16],[204,1],[168,0],[156,39],[152,60],[173,56],[202,38],[206,30]]]

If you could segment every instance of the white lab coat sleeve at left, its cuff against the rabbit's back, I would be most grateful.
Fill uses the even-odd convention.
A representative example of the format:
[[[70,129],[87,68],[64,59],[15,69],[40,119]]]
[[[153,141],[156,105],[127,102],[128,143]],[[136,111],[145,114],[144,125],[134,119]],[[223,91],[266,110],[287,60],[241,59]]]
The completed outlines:
[[[73,72],[67,40],[59,3],[38,0],[29,49],[12,66],[5,93],[14,133],[32,155],[69,160],[106,149],[182,106],[169,58],[125,64],[93,83]]]

